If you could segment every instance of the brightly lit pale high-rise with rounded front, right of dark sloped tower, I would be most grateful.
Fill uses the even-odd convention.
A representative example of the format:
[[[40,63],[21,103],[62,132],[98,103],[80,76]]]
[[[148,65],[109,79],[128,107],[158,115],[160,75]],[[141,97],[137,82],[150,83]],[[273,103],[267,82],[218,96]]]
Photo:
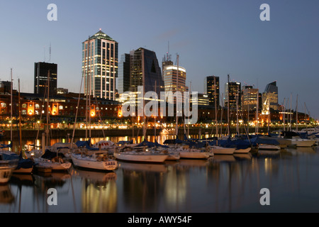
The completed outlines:
[[[163,62],[163,78],[164,78],[164,91],[172,92],[174,99],[167,100],[174,104],[179,101],[179,103],[184,102],[184,92],[188,91],[186,86],[186,69],[177,65],[164,64]],[[181,96],[176,96],[176,92],[180,92]],[[177,99],[179,97],[179,99]]]

